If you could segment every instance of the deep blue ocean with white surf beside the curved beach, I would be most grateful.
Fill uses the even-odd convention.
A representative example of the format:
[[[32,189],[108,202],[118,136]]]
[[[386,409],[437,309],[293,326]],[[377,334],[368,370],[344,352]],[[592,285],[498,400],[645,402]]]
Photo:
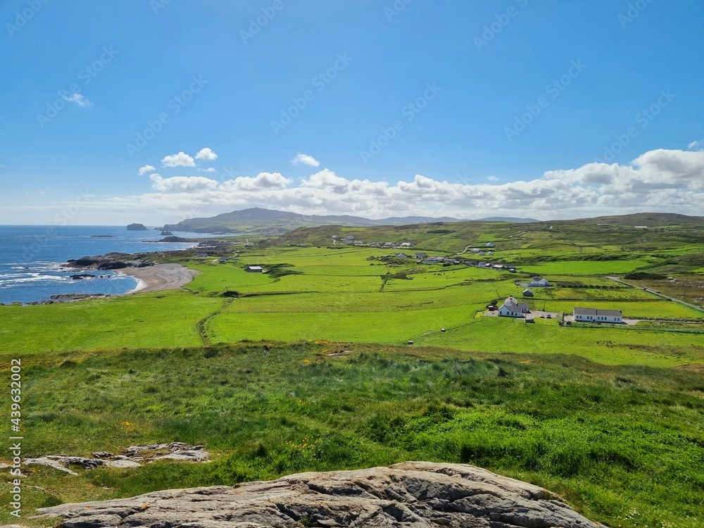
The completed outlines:
[[[0,225],[0,303],[48,301],[58,294],[125,294],[138,281],[113,271],[61,268],[71,258],[104,253],[174,251],[196,244],[149,241],[163,239],[160,231],[127,231],[125,226]],[[207,234],[176,233],[180,237],[206,238]],[[100,275],[75,280],[80,273]]]

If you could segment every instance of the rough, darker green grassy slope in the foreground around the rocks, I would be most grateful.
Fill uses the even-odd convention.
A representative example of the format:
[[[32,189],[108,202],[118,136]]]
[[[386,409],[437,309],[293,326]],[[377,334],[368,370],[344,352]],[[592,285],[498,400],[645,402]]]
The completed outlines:
[[[696,372],[379,346],[327,356],[338,349],[244,344],[26,360],[26,456],[184,441],[204,444],[214,461],[77,476],[32,467],[23,510],[432,460],[546,486],[614,527],[704,522]]]

